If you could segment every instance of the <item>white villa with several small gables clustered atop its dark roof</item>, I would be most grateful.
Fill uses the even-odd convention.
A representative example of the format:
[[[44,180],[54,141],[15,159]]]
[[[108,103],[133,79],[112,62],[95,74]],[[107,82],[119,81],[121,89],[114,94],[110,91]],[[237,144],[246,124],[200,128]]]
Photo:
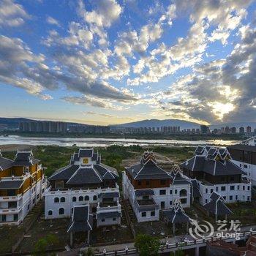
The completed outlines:
[[[181,164],[183,173],[192,182],[192,197],[204,205],[216,192],[226,203],[251,200],[251,182],[241,167],[232,162],[226,148],[202,147],[195,157]]]

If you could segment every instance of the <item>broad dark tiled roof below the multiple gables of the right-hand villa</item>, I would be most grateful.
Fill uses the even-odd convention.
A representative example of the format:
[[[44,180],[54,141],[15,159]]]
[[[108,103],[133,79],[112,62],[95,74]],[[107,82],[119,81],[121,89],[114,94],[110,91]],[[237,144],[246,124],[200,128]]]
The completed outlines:
[[[181,164],[188,170],[209,173],[214,176],[244,174],[240,167],[230,160],[219,161],[204,156],[195,156]]]

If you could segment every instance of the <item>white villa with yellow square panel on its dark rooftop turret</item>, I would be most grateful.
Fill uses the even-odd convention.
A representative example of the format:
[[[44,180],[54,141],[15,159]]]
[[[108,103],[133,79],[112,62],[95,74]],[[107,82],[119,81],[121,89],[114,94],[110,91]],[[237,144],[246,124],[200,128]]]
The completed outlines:
[[[119,225],[121,205],[117,178],[116,169],[102,164],[93,148],[80,148],[72,154],[69,165],[48,178],[45,219],[72,217],[75,206],[86,206],[97,227]]]

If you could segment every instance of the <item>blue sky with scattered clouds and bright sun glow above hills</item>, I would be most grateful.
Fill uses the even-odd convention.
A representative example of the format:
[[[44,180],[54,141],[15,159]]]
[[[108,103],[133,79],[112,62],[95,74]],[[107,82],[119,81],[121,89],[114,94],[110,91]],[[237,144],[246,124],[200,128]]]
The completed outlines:
[[[256,121],[252,0],[1,0],[0,116]]]

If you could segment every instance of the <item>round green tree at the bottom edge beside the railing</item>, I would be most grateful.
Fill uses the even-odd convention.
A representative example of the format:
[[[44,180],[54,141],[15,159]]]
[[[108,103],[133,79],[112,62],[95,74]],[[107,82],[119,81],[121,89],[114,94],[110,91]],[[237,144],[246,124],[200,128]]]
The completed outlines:
[[[159,255],[160,242],[153,236],[139,234],[135,238],[135,248],[138,249],[140,256],[156,256]]]

